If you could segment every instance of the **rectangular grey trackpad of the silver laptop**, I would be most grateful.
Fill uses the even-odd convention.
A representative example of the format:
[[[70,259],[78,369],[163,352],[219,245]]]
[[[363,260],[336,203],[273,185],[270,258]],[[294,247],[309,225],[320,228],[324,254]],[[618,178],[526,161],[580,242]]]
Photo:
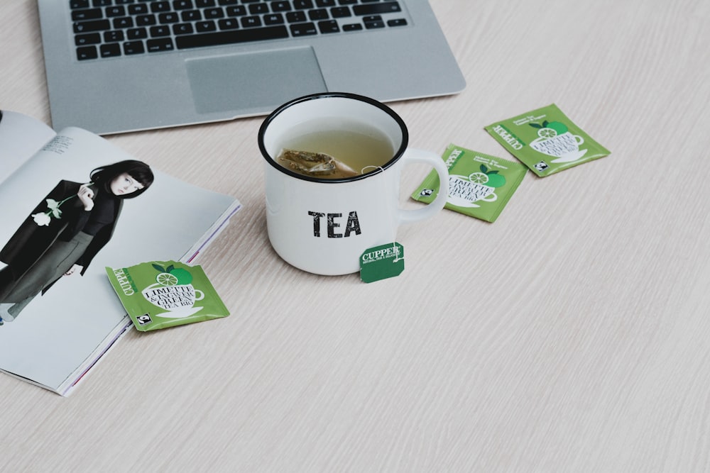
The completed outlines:
[[[261,113],[327,91],[312,48],[208,57],[186,64],[198,113]]]

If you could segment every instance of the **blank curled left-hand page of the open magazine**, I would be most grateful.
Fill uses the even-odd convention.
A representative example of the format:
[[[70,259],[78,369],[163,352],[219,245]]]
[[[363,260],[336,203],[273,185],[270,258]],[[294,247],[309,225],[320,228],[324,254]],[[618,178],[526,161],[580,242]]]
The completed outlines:
[[[56,133],[36,118],[0,110],[0,182],[30,159]]]

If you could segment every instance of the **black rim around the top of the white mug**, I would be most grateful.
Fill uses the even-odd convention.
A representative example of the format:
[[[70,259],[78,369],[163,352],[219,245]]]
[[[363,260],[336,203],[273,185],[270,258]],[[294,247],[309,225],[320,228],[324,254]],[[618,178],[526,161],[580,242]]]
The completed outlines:
[[[358,174],[357,176],[354,176],[354,177],[342,177],[339,179],[325,179],[323,177],[305,176],[303,174],[298,174],[297,172],[293,172],[292,170],[279,165],[275,161],[275,158],[272,157],[271,155],[269,155],[269,153],[266,151],[266,146],[264,145],[264,135],[266,134],[266,129],[271,124],[271,122],[277,116],[279,116],[281,112],[285,111],[287,108],[290,108],[294,105],[300,104],[302,102],[310,101],[310,100],[328,99],[328,98],[333,98],[333,97],[342,98],[342,99],[352,99],[352,100],[366,102],[367,104],[370,104],[372,106],[376,106],[377,108],[380,108],[382,111],[384,111],[389,116],[391,116],[395,122],[397,122],[397,124],[400,127],[400,130],[402,131],[402,143],[400,144],[400,148],[395,151],[392,159],[389,160],[388,162],[386,162],[381,167],[378,167],[377,169],[375,169],[371,172],[366,172],[365,174]],[[259,145],[259,150],[261,151],[261,155],[266,160],[266,162],[268,162],[268,164],[270,164],[276,170],[278,170],[279,172],[283,172],[284,174],[287,174],[291,177],[295,177],[296,179],[301,179],[302,181],[323,182],[323,183],[332,183],[332,184],[339,183],[339,182],[355,182],[355,181],[359,181],[361,179],[366,179],[368,177],[371,177],[371,176],[374,176],[376,174],[383,172],[385,169],[388,169],[388,167],[391,167],[392,165],[394,165],[395,162],[397,162],[400,159],[400,157],[402,157],[405,150],[407,149],[408,142],[409,142],[409,131],[407,130],[407,126],[405,125],[403,119],[397,113],[395,113],[395,111],[393,111],[392,108],[386,106],[381,101],[371,99],[370,97],[367,97],[364,95],[351,94],[350,92],[319,92],[317,94],[309,94],[309,95],[298,97],[297,99],[290,100],[290,101],[286,102],[285,104],[276,108],[273,112],[269,113],[269,115],[264,119],[263,123],[261,123],[261,127],[259,128],[259,134],[258,134],[258,145]]]

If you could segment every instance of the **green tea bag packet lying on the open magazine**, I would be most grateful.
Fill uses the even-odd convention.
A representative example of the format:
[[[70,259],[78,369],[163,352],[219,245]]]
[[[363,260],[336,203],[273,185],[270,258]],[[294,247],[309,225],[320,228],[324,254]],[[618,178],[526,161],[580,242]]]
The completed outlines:
[[[146,262],[107,267],[111,286],[142,332],[229,316],[202,267]]]

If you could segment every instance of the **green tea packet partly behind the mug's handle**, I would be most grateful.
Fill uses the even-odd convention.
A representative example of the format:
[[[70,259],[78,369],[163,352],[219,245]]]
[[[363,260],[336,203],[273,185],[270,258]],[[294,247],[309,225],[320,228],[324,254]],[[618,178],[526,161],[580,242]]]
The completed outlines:
[[[449,145],[442,158],[449,168],[449,196],[444,208],[487,222],[496,221],[528,172],[518,162],[457,145]],[[439,175],[432,171],[414,191],[412,199],[428,204],[438,193]]]

